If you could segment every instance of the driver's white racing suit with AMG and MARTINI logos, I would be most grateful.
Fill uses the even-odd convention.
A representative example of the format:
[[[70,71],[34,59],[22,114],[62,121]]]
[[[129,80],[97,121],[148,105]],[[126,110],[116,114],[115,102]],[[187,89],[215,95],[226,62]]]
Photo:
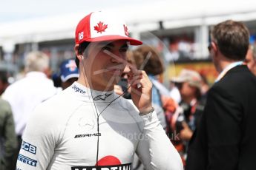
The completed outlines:
[[[183,170],[156,112],[140,116],[118,97],[75,82],[37,106],[16,170],[131,170],[134,152],[146,169]]]

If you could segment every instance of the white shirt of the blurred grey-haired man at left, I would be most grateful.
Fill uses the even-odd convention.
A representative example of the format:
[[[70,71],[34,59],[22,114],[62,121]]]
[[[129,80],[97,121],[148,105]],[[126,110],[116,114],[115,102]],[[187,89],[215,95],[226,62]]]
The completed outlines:
[[[23,134],[33,109],[55,94],[53,81],[43,72],[28,72],[24,78],[7,87],[2,98],[10,103],[13,110],[17,135]]]

